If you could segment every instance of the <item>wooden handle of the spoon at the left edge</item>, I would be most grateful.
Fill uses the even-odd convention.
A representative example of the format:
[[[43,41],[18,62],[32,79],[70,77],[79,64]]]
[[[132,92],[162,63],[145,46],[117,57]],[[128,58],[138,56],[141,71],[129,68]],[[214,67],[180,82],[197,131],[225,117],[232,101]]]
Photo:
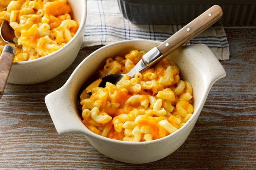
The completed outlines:
[[[15,47],[5,45],[0,56],[0,96],[4,93],[4,88],[11,71],[12,62],[15,56]]]

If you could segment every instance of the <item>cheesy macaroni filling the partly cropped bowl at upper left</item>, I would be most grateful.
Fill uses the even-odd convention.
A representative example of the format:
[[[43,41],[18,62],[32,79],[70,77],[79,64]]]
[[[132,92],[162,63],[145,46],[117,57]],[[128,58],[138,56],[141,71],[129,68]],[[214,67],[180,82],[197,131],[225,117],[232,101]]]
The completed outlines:
[[[72,9],[67,0],[12,0],[8,4],[0,1],[0,11],[0,23],[10,23],[21,45],[16,48],[14,62],[57,51],[78,30],[78,22],[69,15]],[[5,44],[1,39],[0,54]]]

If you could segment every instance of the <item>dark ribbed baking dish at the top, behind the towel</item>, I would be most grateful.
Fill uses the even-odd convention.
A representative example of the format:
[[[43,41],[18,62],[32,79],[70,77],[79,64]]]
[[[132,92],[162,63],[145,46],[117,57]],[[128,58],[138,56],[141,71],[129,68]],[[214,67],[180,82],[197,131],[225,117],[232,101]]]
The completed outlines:
[[[223,11],[217,25],[256,25],[256,0],[117,0],[125,19],[135,24],[184,25],[212,5]]]

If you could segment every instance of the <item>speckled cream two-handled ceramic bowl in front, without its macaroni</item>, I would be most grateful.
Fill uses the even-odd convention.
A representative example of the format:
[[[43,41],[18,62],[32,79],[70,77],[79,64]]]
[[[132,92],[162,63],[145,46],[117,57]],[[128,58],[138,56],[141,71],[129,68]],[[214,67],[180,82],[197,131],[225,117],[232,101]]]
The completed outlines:
[[[99,48],[84,59],[63,87],[45,97],[46,106],[58,133],[82,133],[102,154],[127,163],[157,161],[178,149],[193,129],[212,84],[226,76],[221,63],[204,44],[184,46],[167,56],[167,59],[175,62],[180,68],[182,79],[191,83],[195,112],[184,126],[166,137],[147,142],[126,142],[102,137],[84,126],[76,107],[79,88],[97,72],[106,58],[124,54],[132,49],[149,51],[158,44],[160,42],[151,40],[120,41]]]

